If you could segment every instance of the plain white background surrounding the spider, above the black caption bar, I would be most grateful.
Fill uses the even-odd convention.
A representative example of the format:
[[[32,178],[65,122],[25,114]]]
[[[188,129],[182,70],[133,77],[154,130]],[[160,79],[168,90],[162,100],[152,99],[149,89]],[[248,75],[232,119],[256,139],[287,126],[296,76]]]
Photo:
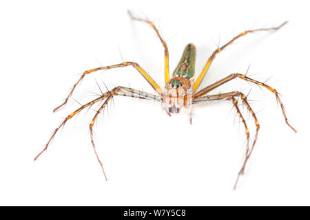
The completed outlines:
[[[309,5],[307,1],[1,1],[0,205],[310,205]],[[95,159],[82,112],[52,131],[79,107],[73,99],[56,113],[85,69],[139,63],[163,83],[163,48],[131,9],[158,25],[172,72],[187,43],[197,47],[196,75],[220,45],[248,28],[289,21],[278,32],[249,34],[216,57],[202,86],[228,74],[265,81],[282,94],[285,125],[267,89],[234,80],[217,91],[251,89],[261,130],[256,149],[232,190],[245,152],[245,132],[231,102],[194,108],[169,118],[161,104],[114,98],[95,124],[108,181]],[[85,77],[73,98],[85,103],[123,85],[152,92],[132,67]],[[102,81],[103,80],[103,81]],[[105,89],[106,90],[106,89]],[[95,108],[95,107],[94,107]],[[254,136],[255,126],[240,105]]]

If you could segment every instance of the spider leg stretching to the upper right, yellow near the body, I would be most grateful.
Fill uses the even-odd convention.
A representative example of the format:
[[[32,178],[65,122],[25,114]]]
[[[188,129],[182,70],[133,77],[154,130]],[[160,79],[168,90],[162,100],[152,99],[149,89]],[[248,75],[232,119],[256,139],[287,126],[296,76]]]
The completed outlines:
[[[231,41],[229,41],[228,43],[226,43],[225,45],[223,45],[222,47],[218,47],[218,49],[216,49],[211,56],[209,57],[207,63],[205,64],[205,67],[203,68],[203,71],[201,72],[201,74],[198,76],[196,82],[193,85],[193,90],[196,91],[200,85],[200,83],[203,81],[203,78],[205,77],[205,74],[207,74],[207,71],[212,63],[212,61],[214,61],[214,58],[216,57],[216,54],[219,54],[221,51],[223,51],[228,45],[231,45],[231,43],[233,43],[234,41],[236,41],[236,39],[240,38],[241,36],[245,36],[246,34],[249,33],[253,33],[253,32],[260,32],[260,31],[269,31],[269,30],[278,30],[280,28],[282,28],[283,25],[285,25],[287,23],[287,21],[285,21],[284,23],[282,23],[280,26],[275,27],[275,28],[260,28],[260,29],[254,29],[254,30],[246,30],[245,32],[242,32],[240,34],[238,34],[237,36],[235,36],[233,39],[231,39]]]

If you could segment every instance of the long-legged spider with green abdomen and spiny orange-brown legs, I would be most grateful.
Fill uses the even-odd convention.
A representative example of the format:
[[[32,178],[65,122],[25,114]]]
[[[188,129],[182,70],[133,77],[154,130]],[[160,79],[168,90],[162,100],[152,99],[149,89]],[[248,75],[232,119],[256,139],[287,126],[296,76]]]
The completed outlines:
[[[276,96],[277,102],[280,103],[280,107],[282,109],[282,114],[285,118],[286,124],[291,129],[293,129],[293,131],[296,132],[296,130],[293,128],[293,126],[291,126],[291,124],[289,124],[289,122],[287,120],[285,108],[282,104],[282,101],[280,100],[278,91],[276,91],[276,89],[273,89],[273,87],[266,85],[265,83],[261,83],[258,80],[254,80],[252,78],[247,77],[247,74],[238,74],[238,73],[230,74],[229,76],[219,80],[218,82],[213,83],[213,84],[208,85],[207,87],[205,87],[203,89],[198,90],[200,83],[202,83],[203,78],[207,74],[207,71],[208,71],[212,61],[214,61],[214,58],[216,58],[216,55],[219,54],[220,52],[222,52],[223,50],[225,50],[225,48],[228,47],[229,45],[231,45],[231,43],[233,43],[234,41],[239,39],[241,36],[245,36],[249,33],[279,30],[280,28],[282,28],[283,25],[285,25],[287,23],[287,21],[285,21],[284,23],[282,23],[278,27],[260,28],[260,29],[255,29],[255,30],[246,30],[245,32],[238,34],[233,39],[231,39],[231,41],[229,41],[228,43],[226,43],[225,45],[223,45],[221,47],[218,47],[211,54],[211,56],[207,60],[207,63],[205,64],[205,67],[203,68],[203,71],[199,74],[198,78],[196,80],[194,80],[196,47],[192,43],[189,43],[185,47],[185,50],[184,50],[183,55],[180,59],[180,62],[178,63],[176,69],[174,69],[174,72],[172,73],[172,78],[170,78],[170,76],[169,76],[168,47],[167,47],[167,44],[165,43],[165,41],[163,40],[163,37],[161,36],[161,34],[158,32],[158,29],[156,28],[154,23],[152,23],[151,21],[149,21],[147,19],[141,19],[138,17],[134,17],[132,12],[130,12],[130,11],[128,11],[128,14],[130,15],[130,18],[132,20],[142,21],[144,23],[148,23],[153,28],[153,30],[156,32],[156,35],[160,39],[161,44],[163,45],[164,54],[165,54],[165,87],[164,88],[159,87],[159,85],[152,79],[152,77],[149,76],[149,74],[147,74],[147,72],[145,72],[145,70],[140,65],[138,65],[138,63],[134,63],[134,62],[123,62],[123,63],[119,63],[116,65],[110,65],[110,66],[98,67],[95,69],[86,70],[85,72],[83,72],[83,74],[79,78],[79,80],[73,85],[73,87],[70,90],[70,93],[68,94],[67,98],[65,98],[63,103],[61,105],[59,105],[59,107],[56,107],[54,109],[54,111],[57,111],[58,109],[63,107],[68,102],[70,96],[72,96],[74,89],[76,88],[76,86],[79,83],[81,83],[81,80],[83,80],[83,78],[86,75],[92,74],[93,72],[97,72],[97,71],[103,70],[103,69],[114,69],[114,68],[119,68],[119,67],[132,66],[132,67],[134,67],[134,69],[136,69],[138,71],[139,74],[141,74],[141,76],[143,76],[145,78],[145,80],[147,80],[147,83],[149,83],[149,85],[152,86],[152,88],[156,91],[156,94],[149,94],[145,91],[139,91],[136,89],[132,89],[130,87],[121,87],[121,86],[115,87],[114,89],[112,89],[110,91],[106,91],[99,98],[96,98],[96,99],[92,100],[91,102],[88,102],[86,104],[81,105],[81,107],[79,107],[79,109],[76,109],[76,111],[73,111],[72,113],[70,113],[63,120],[63,122],[61,122],[61,124],[59,124],[59,126],[54,130],[50,139],[48,140],[48,143],[45,144],[45,147],[43,148],[43,150],[39,153],[39,155],[37,155],[37,157],[34,158],[34,160],[36,160],[44,151],[47,150],[48,145],[50,144],[50,142],[52,141],[52,139],[56,135],[57,131],[59,131],[59,129],[61,129],[61,127],[64,126],[64,124],[66,122],[68,122],[68,120],[72,119],[74,117],[74,115],[76,115],[77,113],[79,113],[83,109],[85,109],[87,107],[92,107],[92,105],[95,104],[96,102],[101,102],[104,100],[103,104],[101,104],[99,109],[96,111],[94,118],[92,118],[92,121],[90,122],[89,127],[90,127],[90,140],[92,142],[92,147],[94,148],[94,153],[96,155],[96,159],[98,159],[98,162],[99,162],[101,169],[103,171],[103,175],[105,177],[105,180],[107,180],[107,176],[105,175],[105,170],[103,169],[103,164],[101,163],[101,160],[99,159],[99,155],[96,152],[96,146],[94,144],[93,126],[94,126],[94,123],[96,122],[96,119],[98,118],[99,114],[103,111],[103,109],[105,109],[108,102],[110,102],[110,100],[112,100],[112,98],[114,96],[129,96],[129,97],[133,97],[133,98],[141,98],[141,99],[146,99],[146,100],[155,100],[157,102],[162,102],[163,108],[165,109],[165,111],[167,112],[167,114],[169,116],[171,116],[172,113],[180,113],[181,109],[191,109],[193,104],[206,103],[206,102],[211,102],[214,100],[230,100],[233,104],[233,107],[236,109],[242,124],[245,126],[245,135],[247,137],[247,148],[245,151],[245,160],[242,164],[242,167],[240,168],[240,171],[238,172],[236,183],[234,184],[234,189],[235,189],[237,184],[238,184],[238,179],[239,179],[240,175],[242,175],[245,172],[245,166],[247,164],[247,161],[249,160],[249,157],[251,156],[251,154],[254,150],[254,146],[256,144],[256,140],[258,137],[258,131],[260,129],[260,124],[258,122],[256,114],[254,113],[251,106],[249,105],[249,102],[247,102],[247,96],[245,96],[245,94],[242,94],[242,92],[231,91],[231,92],[227,92],[224,94],[207,95],[210,91],[216,89],[217,87],[220,87],[221,85],[223,85],[223,84],[225,84],[231,80],[234,80],[235,78],[241,78],[242,80],[248,81],[250,83],[254,83],[260,87],[265,87],[266,89],[271,91]],[[240,98],[240,100],[242,100],[242,103],[245,105],[245,107],[247,107],[249,113],[251,113],[251,116],[254,118],[254,122],[256,124],[256,134],[254,136],[254,141],[252,142],[251,147],[249,146],[249,142],[250,142],[249,129],[247,127],[247,123],[245,122],[245,118],[243,117],[243,115],[242,115],[242,113],[238,107],[237,98]],[[189,121],[192,124],[192,111],[190,110],[189,113],[190,113]]]

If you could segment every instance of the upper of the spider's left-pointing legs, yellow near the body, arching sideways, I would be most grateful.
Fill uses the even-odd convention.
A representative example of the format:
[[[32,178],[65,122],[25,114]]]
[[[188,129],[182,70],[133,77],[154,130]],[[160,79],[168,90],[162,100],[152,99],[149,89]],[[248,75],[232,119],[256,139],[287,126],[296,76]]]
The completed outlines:
[[[59,105],[59,107],[56,107],[54,109],[54,111],[57,111],[57,109],[61,108],[63,105],[65,105],[68,102],[68,99],[70,98],[70,96],[72,96],[72,93],[73,93],[74,89],[76,88],[76,86],[81,82],[81,80],[83,80],[84,76],[86,76],[87,74],[91,74],[92,72],[96,72],[96,71],[103,70],[103,69],[114,69],[117,67],[127,67],[127,66],[132,66],[135,69],[137,69],[138,72],[145,78],[145,80],[147,80],[149,85],[151,85],[153,87],[153,89],[155,89],[155,91],[157,91],[158,94],[162,93],[161,87],[159,87],[159,85],[152,79],[151,76],[149,76],[149,74],[147,74],[147,72],[145,72],[145,70],[140,65],[138,65],[138,63],[124,62],[124,63],[120,63],[120,64],[116,64],[116,65],[110,65],[110,66],[98,67],[95,69],[86,70],[82,74],[82,76],[79,78],[79,80],[73,85],[72,89],[70,90],[69,95],[67,96],[67,98],[65,98],[64,102],[61,105]]]

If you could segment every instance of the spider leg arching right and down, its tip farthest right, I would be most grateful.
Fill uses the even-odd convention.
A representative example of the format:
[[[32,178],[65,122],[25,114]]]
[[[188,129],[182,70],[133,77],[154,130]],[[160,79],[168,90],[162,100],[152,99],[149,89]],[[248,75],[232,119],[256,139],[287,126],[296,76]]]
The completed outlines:
[[[291,124],[289,124],[289,122],[288,122],[287,114],[285,113],[285,108],[284,108],[284,105],[282,104],[282,101],[280,100],[280,96],[278,94],[278,91],[276,91],[276,89],[273,89],[269,85],[266,85],[265,83],[261,83],[261,82],[259,82],[257,80],[251,79],[251,78],[245,76],[244,74],[231,74],[231,75],[223,78],[222,80],[219,80],[218,82],[213,83],[213,84],[205,87],[204,89],[201,89],[200,91],[196,92],[196,94],[194,94],[194,98],[203,96],[203,95],[207,94],[209,91],[212,91],[213,89],[216,89],[220,85],[223,85],[223,84],[225,84],[225,83],[227,83],[230,80],[233,80],[235,78],[241,78],[242,80],[245,80],[245,81],[248,81],[248,82],[251,82],[251,83],[255,83],[256,85],[259,85],[259,86],[262,86],[262,87],[265,87],[265,88],[269,89],[269,91],[271,91],[273,94],[275,94],[278,102],[280,103],[280,106],[281,106],[281,109],[282,109],[282,114],[283,114],[283,116],[285,118],[285,123],[287,123],[287,125],[293,131],[297,132],[296,129],[294,129],[293,126],[291,126]]]

